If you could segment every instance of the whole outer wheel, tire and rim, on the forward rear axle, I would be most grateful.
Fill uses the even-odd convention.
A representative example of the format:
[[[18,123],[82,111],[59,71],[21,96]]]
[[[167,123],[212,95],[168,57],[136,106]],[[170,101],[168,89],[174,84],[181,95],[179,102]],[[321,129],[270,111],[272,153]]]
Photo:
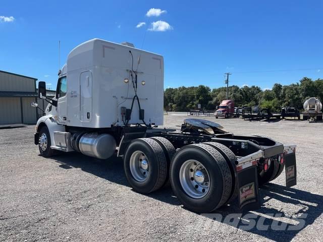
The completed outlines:
[[[133,140],[124,157],[124,170],[128,183],[136,192],[148,194],[158,190],[167,178],[167,160],[163,148],[150,138]]]

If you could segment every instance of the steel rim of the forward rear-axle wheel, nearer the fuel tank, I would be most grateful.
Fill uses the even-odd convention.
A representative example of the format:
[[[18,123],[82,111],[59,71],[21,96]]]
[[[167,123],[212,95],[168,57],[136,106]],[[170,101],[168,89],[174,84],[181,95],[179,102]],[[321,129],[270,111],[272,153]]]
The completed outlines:
[[[142,151],[135,151],[130,157],[130,172],[136,181],[142,183],[149,175],[149,161]]]

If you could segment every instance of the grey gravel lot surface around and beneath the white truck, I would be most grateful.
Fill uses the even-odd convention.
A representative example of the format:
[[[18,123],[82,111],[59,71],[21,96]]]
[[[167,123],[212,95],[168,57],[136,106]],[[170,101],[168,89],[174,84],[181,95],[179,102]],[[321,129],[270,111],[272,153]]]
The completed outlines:
[[[184,118],[165,115],[165,126],[180,125]],[[241,216],[235,204],[216,211],[233,214],[232,220],[215,221],[214,215],[185,210],[171,188],[138,194],[127,183],[121,159],[100,161],[75,153],[43,158],[33,144],[34,126],[27,126],[0,130],[0,240],[321,241],[323,124],[205,119],[235,134],[263,134],[297,145],[297,186],[285,188],[283,173],[259,190],[263,204],[248,214],[264,225],[278,220],[297,224],[289,217],[307,214],[303,228],[275,231],[260,226],[246,231],[234,226]],[[274,218],[277,213],[285,218]]]

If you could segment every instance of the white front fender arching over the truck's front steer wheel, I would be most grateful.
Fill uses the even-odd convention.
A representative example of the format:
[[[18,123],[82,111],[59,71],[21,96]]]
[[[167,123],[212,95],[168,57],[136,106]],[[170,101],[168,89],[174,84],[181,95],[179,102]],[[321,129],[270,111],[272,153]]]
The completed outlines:
[[[35,136],[36,135],[39,136],[38,134],[39,129],[43,126],[46,126],[49,131],[51,145],[56,145],[54,140],[54,131],[65,132],[65,125],[58,124],[57,120],[55,119],[55,116],[53,116],[52,114],[42,116],[37,120],[37,124],[35,128],[35,131],[36,131]],[[35,139],[35,143],[36,143],[36,139]]]

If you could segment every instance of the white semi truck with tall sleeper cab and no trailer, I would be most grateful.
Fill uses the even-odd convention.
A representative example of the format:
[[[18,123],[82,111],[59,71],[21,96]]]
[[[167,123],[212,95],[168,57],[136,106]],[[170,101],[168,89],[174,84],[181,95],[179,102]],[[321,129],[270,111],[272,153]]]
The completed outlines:
[[[286,168],[296,184],[295,146],[260,136],[236,136],[219,124],[185,119],[180,130],[163,125],[164,58],[92,39],[75,47],[59,72],[56,97],[35,128],[40,154],[81,152],[123,157],[130,186],[148,194],[170,181],[180,202],[211,212],[238,199],[241,209],[259,206],[258,186]]]

